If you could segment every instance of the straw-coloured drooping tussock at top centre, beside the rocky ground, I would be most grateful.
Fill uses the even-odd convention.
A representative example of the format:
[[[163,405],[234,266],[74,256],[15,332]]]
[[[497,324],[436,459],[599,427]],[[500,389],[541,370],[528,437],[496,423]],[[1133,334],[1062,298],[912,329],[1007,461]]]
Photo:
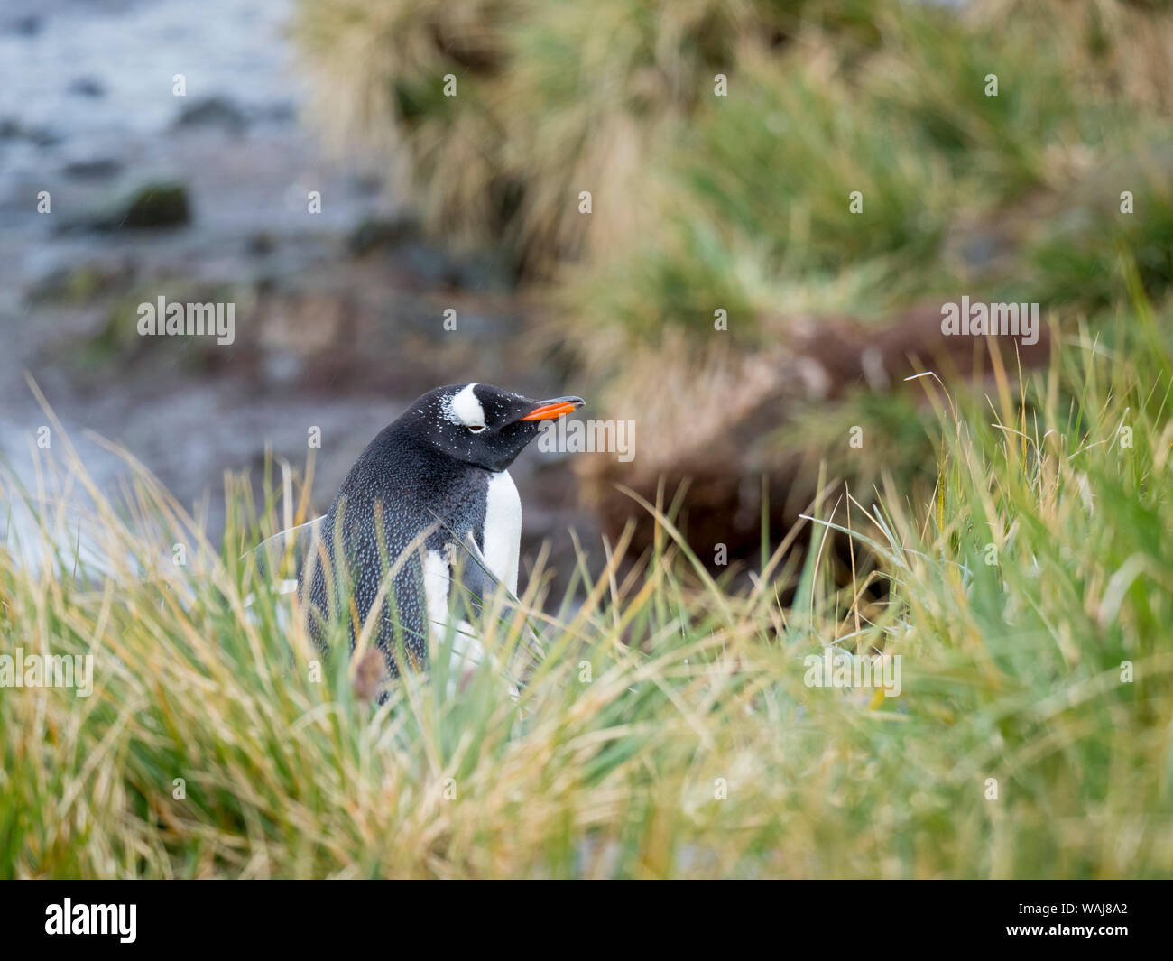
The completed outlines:
[[[447,242],[541,275],[635,228],[647,144],[764,18],[791,19],[746,0],[312,0],[294,29],[337,142],[392,164]],[[586,219],[581,190],[599,197]]]

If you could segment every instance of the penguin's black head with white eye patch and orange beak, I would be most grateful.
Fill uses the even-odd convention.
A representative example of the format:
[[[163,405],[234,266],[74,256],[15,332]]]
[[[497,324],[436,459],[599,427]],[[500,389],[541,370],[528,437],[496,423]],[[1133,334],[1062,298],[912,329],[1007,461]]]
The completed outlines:
[[[441,453],[486,471],[504,471],[544,420],[578,410],[581,397],[531,400],[491,384],[452,384],[416,400],[400,418]]]

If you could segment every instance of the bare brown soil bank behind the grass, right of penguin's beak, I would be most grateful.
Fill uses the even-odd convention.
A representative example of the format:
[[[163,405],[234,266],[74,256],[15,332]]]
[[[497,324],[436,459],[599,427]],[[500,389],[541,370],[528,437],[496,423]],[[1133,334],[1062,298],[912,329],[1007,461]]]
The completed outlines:
[[[884,473],[931,481],[931,447],[922,445],[923,460],[908,463],[909,451],[900,448],[893,431],[876,436],[875,428],[888,425],[868,421],[872,399],[894,399],[890,415],[906,418],[915,432],[915,415],[930,413],[918,375],[954,386],[981,380],[996,365],[1015,375],[1045,365],[1051,351],[1045,322],[1028,338],[1031,344],[945,336],[942,305],[906,311],[879,327],[845,317],[811,317],[787,326],[788,343],[769,350],[721,351],[692,365],[677,359],[659,375],[625,381],[615,404],[635,412],[636,456],[626,463],[613,456],[578,460],[584,496],[612,539],[635,522],[632,546],[651,546],[651,519],[625,487],[652,503],[676,502],[678,527],[701,559],[712,562],[716,546],[724,544],[730,561],[753,563],[761,551],[762,512],[769,543],[777,544],[809,509],[820,461],[852,478],[857,498],[870,496],[860,492]],[[805,422],[819,410],[829,418],[833,436],[826,424],[805,435]],[[823,475],[823,482],[835,476]]]

